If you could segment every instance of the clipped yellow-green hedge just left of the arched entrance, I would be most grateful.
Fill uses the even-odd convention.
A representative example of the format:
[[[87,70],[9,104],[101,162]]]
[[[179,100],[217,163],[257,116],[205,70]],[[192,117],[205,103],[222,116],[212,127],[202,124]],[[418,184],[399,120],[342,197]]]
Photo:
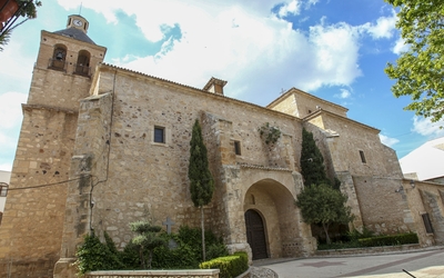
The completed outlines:
[[[235,252],[232,256],[220,257],[204,261],[199,266],[201,269],[218,268],[220,278],[232,278],[249,269],[249,258],[245,252]]]

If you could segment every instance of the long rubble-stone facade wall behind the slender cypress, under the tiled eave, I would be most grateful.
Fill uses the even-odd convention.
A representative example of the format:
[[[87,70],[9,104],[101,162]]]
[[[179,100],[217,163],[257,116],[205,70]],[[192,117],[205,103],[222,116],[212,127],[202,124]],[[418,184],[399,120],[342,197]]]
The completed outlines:
[[[114,79],[112,83],[105,81]],[[108,66],[101,67],[97,80],[92,91],[112,90],[114,100],[108,180],[92,193],[93,226],[98,231],[107,230],[120,248],[132,237],[128,224],[148,217],[148,212],[158,225],[167,217],[173,219],[173,231],[180,225],[199,224],[200,214],[192,205],[188,182],[189,145],[195,119],[203,120],[210,167],[216,180],[216,192],[209,205],[209,214],[215,219],[206,217],[206,225],[216,232],[222,230],[228,242],[239,240],[229,239],[231,228],[219,229],[231,218],[230,206],[225,205],[233,195],[228,188],[231,168],[220,166],[270,166],[258,128],[272,122],[285,135],[294,135],[280,141],[278,157],[284,157],[279,160],[286,168],[299,167],[301,126],[295,118]],[[79,129],[84,128],[82,125],[79,122]],[[165,143],[153,142],[154,126],[165,128]],[[242,156],[234,155],[236,138],[241,140]],[[243,211],[236,214],[243,221]]]

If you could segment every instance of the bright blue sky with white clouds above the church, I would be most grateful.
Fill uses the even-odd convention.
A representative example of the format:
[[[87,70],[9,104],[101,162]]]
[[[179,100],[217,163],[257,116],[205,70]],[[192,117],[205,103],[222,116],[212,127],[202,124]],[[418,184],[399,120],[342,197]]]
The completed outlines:
[[[225,95],[260,106],[292,87],[349,108],[349,118],[381,130],[404,157],[444,136],[403,108],[385,73],[406,49],[396,11],[383,0],[43,0],[0,52],[0,170],[11,170],[40,31],[90,22],[105,62],[202,88],[228,80]],[[81,7],[81,9],[80,9]]]

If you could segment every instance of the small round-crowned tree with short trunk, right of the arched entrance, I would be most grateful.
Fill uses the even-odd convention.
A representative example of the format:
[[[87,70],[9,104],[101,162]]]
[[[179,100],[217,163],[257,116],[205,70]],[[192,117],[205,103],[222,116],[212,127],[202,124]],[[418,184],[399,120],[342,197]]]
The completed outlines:
[[[345,205],[346,200],[346,195],[329,185],[311,185],[297,195],[296,206],[301,209],[304,222],[322,225],[326,242],[331,244],[329,226],[353,220],[351,208]]]

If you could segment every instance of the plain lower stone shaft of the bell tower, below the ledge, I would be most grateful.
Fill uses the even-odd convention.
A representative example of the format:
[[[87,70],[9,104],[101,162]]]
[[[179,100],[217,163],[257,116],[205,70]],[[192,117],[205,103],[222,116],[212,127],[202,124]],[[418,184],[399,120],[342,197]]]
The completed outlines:
[[[24,106],[10,190],[0,226],[0,276],[28,277],[60,256],[77,113]],[[27,188],[27,189],[26,189]],[[46,267],[46,269],[40,269]]]

